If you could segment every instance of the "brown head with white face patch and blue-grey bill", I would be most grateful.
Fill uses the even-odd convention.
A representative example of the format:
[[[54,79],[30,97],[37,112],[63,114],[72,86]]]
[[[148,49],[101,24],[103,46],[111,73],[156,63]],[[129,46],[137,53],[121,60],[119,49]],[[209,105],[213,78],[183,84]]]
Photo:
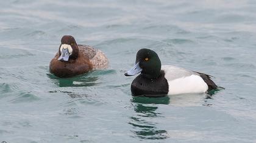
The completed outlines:
[[[59,61],[68,61],[69,59],[77,59],[78,57],[78,45],[73,36],[64,35],[61,40],[62,44],[59,47]]]

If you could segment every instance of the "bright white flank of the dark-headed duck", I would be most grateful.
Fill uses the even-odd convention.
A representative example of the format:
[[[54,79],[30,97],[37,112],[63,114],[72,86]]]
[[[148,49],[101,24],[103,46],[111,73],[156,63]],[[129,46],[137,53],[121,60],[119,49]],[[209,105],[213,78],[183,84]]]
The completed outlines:
[[[191,75],[183,78],[168,81],[168,95],[179,95],[185,93],[204,93],[208,90],[208,85],[198,75]]]

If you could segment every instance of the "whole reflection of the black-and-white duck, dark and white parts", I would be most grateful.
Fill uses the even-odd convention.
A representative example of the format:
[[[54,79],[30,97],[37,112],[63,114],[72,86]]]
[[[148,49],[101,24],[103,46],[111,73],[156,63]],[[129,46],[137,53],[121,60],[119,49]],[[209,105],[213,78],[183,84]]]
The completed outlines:
[[[213,91],[211,94],[171,95],[161,98],[133,97],[135,114],[130,117],[129,122],[133,126],[132,132],[140,139],[166,139],[168,132],[158,128],[159,125],[157,125],[157,119],[163,117],[157,112],[159,104],[181,107],[211,106],[211,100],[216,92],[218,91]]]

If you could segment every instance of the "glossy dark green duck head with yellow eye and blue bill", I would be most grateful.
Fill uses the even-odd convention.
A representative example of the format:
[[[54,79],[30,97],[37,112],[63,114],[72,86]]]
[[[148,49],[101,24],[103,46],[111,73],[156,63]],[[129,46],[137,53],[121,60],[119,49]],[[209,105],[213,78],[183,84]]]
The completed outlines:
[[[137,52],[135,65],[124,75],[133,76],[138,73],[146,78],[157,78],[161,74],[161,61],[157,53],[148,48]]]

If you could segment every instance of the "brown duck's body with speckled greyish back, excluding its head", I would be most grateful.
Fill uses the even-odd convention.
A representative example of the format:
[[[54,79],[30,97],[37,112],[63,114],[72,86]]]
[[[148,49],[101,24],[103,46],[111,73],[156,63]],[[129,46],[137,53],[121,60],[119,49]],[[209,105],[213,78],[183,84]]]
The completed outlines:
[[[87,73],[90,70],[107,68],[108,60],[100,50],[88,45],[78,45],[77,47],[79,52],[76,59],[59,61],[60,53],[56,53],[49,65],[50,72],[60,78],[68,78]]]

